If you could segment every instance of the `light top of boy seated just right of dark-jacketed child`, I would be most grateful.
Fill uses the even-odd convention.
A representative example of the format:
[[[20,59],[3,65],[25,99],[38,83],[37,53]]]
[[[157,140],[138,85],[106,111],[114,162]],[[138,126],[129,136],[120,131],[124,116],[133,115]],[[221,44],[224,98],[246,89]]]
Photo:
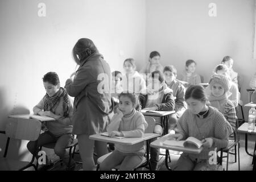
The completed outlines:
[[[185,109],[187,109],[187,103],[185,102],[185,87],[181,82],[177,79],[171,82],[171,84],[167,84],[169,88],[172,89],[172,92],[174,94],[175,99],[175,111],[177,117],[181,117],[181,115],[184,113]]]

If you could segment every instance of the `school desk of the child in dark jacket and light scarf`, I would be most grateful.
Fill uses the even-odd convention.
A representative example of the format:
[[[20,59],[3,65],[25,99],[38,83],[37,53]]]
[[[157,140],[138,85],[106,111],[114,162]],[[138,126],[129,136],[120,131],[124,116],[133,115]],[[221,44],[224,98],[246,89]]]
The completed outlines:
[[[150,117],[160,117],[160,121],[163,123],[163,135],[168,134],[168,115],[175,114],[175,110],[172,111],[156,111],[157,113],[154,113],[154,111],[151,112],[143,112],[141,110],[143,115],[147,115]],[[169,150],[166,150],[166,155],[165,155],[165,164],[166,168],[168,170],[171,170],[170,167],[168,167],[168,158],[169,158]]]

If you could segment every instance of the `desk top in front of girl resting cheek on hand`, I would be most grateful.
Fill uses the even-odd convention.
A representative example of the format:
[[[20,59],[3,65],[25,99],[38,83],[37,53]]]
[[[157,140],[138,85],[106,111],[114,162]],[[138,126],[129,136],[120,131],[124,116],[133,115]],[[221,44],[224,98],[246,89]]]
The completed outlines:
[[[110,143],[117,143],[117,144],[125,144],[125,145],[132,145],[139,142],[146,141],[148,139],[160,137],[159,134],[156,133],[144,133],[143,137],[139,138],[112,138],[112,137],[105,137],[100,134],[90,135],[89,139],[98,140],[101,142],[110,142]]]

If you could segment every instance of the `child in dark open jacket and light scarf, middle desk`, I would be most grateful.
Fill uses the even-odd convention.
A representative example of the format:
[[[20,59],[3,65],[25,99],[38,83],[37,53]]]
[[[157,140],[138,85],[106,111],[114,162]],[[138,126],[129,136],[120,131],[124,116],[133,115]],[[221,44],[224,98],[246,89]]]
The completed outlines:
[[[139,103],[141,105],[141,109],[144,110],[174,110],[175,98],[174,95],[172,94],[172,89],[168,88],[168,86],[165,84],[162,72],[154,71],[151,73],[151,76],[148,79],[147,94],[141,94],[139,96]],[[155,117],[155,120],[156,125],[154,133],[162,134],[163,123],[160,121],[159,117]],[[150,163],[152,170],[156,170],[157,168],[159,154],[159,148],[150,148]]]

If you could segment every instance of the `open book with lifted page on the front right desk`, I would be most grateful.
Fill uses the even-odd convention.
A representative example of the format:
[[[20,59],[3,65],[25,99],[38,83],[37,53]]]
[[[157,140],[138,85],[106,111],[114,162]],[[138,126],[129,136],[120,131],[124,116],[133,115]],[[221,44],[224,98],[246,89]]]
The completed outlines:
[[[163,144],[167,146],[176,146],[176,147],[188,147],[188,148],[200,148],[202,146],[202,142],[195,137],[188,137],[186,140],[165,140]]]

